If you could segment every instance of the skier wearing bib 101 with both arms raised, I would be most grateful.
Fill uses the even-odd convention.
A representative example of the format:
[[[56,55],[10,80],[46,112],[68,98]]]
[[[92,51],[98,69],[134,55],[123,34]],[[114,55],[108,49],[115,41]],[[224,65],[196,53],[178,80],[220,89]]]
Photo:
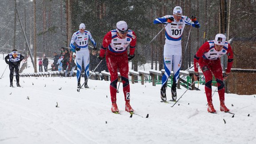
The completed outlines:
[[[164,76],[162,77],[162,87],[160,90],[161,99],[166,101],[166,84],[168,77],[172,71],[173,64],[173,84],[172,84],[172,100],[176,101],[177,92],[176,86],[180,77],[181,67],[181,37],[185,25],[192,25],[192,27],[200,28],[195,16],[190,20],[187,16],[182,16],[182,8],[176,6],[173,9],[173,15],[167,15],[154,20],[154,24],[165,25],[165,44],[164,44]]]

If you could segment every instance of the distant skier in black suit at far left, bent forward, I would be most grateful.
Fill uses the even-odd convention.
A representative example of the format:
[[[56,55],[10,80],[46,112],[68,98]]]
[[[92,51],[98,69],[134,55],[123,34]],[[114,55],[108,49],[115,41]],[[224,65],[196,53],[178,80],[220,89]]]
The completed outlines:
[[[13,49],[11,53],[9,53],[7,56],[5,56],[4,60],[6,64],[9,65],[10,69],[10,87],[13,87],[12,81],[13,81],[13,72],[15,69],[15,75],[16,75],[16,85],[17,87],[20,87],[20,62],[24,59],[24,56],[22,56],[16,49]],[[9,60],[9,61],[8,61]]]

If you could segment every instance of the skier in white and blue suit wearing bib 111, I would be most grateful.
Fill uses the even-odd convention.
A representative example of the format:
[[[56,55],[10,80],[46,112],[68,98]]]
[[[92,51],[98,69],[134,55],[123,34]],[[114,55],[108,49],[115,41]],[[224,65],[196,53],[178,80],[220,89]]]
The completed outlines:
[[[82,71],[82,67],[84,66],[84,88],[89,88],[87,85],[87,78],[89,76],[89,50],[88,50],[88,40],[90,40],[96,49],[96,42],[92,38],[92,34],[89,31],[85,30],[85,24],[81,23],[79,25],[79,30],[72,35],[72,39],[70,42],[70,48],[76,50],[76,63],[77,63],[77,88],[81,87],[80,84],[80,75]],[[82,65],[84,62],[84,65]]]

